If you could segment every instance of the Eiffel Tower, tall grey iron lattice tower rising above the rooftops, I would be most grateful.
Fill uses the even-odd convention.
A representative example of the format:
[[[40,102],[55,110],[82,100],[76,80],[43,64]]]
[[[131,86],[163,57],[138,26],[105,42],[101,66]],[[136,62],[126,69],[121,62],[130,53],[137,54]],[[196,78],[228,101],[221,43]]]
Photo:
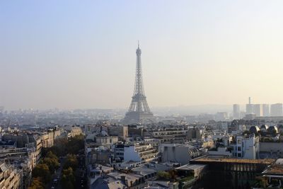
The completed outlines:
[[[124,122],[131,123],[145,123],[152,122],[154,118],[153,113],[149,109],[149,105],[146,102],[146,96],[144,93],[144,85],[141,75],[141,49],[139,43],[136,50],[137,64],[136,64],[136,80],[134,82],[134,94],[132,96],[132,102],[129,105],[129,110],[126,113]]]

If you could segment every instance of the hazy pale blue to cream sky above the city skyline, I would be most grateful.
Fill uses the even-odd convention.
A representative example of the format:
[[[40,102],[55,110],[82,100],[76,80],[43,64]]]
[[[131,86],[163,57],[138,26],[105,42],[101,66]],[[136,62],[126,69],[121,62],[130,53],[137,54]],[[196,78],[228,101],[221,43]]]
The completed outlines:
[[[283,102],[283,1],[0,1],[0,105]]]

